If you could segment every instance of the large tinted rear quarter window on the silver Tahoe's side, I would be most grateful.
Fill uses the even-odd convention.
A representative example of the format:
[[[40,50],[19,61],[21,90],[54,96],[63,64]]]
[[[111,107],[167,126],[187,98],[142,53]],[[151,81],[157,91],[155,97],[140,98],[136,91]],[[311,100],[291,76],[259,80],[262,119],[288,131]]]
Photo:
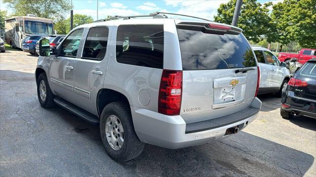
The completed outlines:
[[[120,25],[116,58],[119,63],[163,67],[163,25]]]

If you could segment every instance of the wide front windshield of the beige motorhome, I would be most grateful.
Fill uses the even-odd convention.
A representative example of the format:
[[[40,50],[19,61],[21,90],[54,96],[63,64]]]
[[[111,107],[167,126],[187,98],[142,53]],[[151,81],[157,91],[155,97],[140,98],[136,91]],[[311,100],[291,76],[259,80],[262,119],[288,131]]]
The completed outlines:
[[[24,21],[25,32],[30,34],[53,34],[53,24],[35,21]]]

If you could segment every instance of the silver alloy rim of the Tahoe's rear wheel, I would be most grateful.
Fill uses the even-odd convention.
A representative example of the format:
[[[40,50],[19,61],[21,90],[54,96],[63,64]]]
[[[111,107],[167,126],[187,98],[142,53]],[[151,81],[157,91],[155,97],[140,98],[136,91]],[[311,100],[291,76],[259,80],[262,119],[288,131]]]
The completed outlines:
[[[105,133],[111,148],[119,150],[124,143],[124,129],[122,122],[115,115],[110,115],[106,120]]]

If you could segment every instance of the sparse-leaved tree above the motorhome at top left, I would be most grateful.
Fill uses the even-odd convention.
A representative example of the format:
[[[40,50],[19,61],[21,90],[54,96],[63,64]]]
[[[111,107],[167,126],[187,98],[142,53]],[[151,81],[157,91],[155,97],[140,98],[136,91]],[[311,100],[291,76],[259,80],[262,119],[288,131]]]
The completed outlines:
[[[3,0],[13,9],[12,15],[34,14],[38,17],[59,19],[71,9],[69,0]]]

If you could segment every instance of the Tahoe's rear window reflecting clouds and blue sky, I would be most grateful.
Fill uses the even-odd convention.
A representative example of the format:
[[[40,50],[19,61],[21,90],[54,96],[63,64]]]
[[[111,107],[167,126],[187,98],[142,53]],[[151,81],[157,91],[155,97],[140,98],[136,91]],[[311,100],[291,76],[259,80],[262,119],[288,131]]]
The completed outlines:
[[[187,29],[177,30],[183,70],[256,66],[251,47],[241,33],[218,35]]]

